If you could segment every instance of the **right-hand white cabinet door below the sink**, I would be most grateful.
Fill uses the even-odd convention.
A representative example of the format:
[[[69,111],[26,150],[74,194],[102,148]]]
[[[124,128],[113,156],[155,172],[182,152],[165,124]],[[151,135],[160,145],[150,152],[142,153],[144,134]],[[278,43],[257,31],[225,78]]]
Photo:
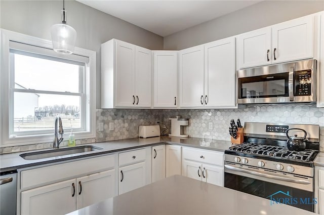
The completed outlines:
[[[76,209],[117,195],[115,169],[76,179]]]

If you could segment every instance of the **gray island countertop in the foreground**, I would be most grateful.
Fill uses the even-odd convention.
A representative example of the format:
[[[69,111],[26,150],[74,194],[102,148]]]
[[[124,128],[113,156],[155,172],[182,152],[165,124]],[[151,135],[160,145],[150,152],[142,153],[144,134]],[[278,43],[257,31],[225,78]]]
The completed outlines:
[[[315,214],[183,176],[146,185],[68,213],[88,214]]]

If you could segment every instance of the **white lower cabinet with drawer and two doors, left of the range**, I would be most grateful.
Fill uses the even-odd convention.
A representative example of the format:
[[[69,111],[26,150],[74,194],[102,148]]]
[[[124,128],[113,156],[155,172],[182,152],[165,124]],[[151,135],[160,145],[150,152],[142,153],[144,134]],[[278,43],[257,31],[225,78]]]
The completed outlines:
[[[182,176],[224,186],[223,153],[184,147]]]

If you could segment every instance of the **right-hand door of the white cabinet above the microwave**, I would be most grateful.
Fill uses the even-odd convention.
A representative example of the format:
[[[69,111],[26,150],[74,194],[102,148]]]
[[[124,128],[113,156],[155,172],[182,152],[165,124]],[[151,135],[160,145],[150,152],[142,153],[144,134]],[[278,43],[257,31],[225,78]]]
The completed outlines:
[[[313,17],[272,26],[272,63],[313,57]]]

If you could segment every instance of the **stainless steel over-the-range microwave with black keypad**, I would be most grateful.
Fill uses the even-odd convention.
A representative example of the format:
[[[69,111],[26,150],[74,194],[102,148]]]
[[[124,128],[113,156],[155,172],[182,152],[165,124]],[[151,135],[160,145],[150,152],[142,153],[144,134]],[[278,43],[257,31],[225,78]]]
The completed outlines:
[[[315,103],[315,76],[316,60],[238,70],[237,103]]]

